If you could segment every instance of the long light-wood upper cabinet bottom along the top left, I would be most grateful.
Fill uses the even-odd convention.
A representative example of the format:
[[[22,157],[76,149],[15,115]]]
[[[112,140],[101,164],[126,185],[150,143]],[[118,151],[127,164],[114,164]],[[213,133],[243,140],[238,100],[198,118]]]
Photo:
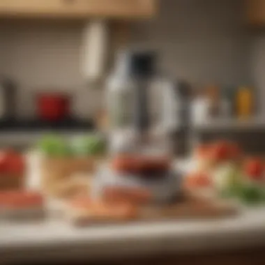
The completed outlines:
[[[0,17],[149,18],[156,14],[156,0],[0,0]]]

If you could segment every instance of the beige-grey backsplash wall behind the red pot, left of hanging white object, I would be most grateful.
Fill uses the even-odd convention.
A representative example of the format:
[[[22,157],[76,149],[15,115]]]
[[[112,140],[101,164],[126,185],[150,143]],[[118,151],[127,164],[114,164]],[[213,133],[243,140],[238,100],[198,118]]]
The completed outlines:
[[[101,91],[89,89],[81,75],[82,24],[44,22],[0,27],[1,73],[20,84],[18,113],[31,116],[33,97],[56,89],[73,93],[74,111],[89,116],[100,102]],[[92,100],[91,100],[92,99]]]

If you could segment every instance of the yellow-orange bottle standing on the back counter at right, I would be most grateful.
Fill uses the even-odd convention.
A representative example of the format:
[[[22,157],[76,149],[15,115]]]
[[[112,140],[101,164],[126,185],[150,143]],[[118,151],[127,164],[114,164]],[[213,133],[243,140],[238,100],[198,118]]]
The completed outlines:
[[[253,92],[250,87],[242,86],[236,93],[236,114],[239,119],[249,119],[253,112]]]

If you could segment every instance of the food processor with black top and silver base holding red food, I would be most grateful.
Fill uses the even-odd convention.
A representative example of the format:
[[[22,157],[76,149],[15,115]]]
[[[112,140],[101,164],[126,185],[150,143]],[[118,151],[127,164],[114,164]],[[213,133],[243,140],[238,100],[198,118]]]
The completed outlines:
[[[119,98],[116,103],[120,104],[122,98],[128,100],[130,93],[130,103],[124,105],[123,102],[129,109],[124,109],[126,119],[114,119],[119,121],[119,126],[115,122],[109,130],[111,143],[112,139],[120,141],[111,144],[109,161],[98,170],[92,196],[114,202],[167,203],[179,193],[181,177],[172,168],[166,128],[157,123],[162,116],[155,108],[159,106],[152,105],[150,100],[155,92],[156,54],[132,52],[127,60],[130,82],[124,84],[130,84],[130,89],[123,88],[123,97],[112,98]],[[156,83],[156,88],[157,84],[161,83]],[[161,101],[162,98],[158,98],[158,103]]]

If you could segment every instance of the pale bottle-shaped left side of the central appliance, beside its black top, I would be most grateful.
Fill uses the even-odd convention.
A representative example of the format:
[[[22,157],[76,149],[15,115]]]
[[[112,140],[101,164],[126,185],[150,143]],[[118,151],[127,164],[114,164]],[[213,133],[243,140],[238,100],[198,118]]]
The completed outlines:
[[[120,52],[114,73],[107,80],[107,116],[110,154],[130,149],[134,89],[131,78],[131,55]]]

